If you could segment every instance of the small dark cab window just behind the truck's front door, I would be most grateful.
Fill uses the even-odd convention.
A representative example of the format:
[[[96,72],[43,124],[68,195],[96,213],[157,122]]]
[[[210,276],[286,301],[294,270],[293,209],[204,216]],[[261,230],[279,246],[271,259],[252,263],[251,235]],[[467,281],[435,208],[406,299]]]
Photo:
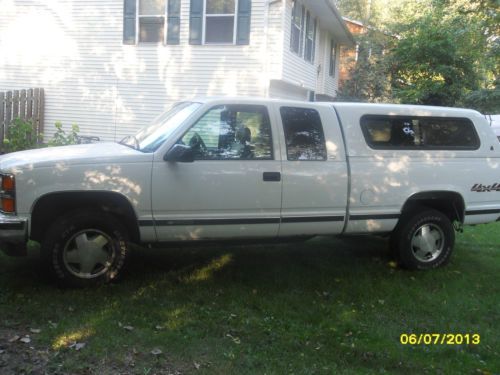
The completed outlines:
[[[318,111],[311,108],[281,107],[287,159],[326,160],[325,136]]]

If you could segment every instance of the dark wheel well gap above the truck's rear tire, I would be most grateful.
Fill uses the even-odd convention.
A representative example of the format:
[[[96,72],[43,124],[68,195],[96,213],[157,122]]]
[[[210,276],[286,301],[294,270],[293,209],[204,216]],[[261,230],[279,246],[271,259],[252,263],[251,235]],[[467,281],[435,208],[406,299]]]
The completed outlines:
[[[465,203],[462,196],[450,191],[428,191],[412,195],[404,204],[402,214],[418,207],[429,207],[445,214],[451,222],[464,222]]]

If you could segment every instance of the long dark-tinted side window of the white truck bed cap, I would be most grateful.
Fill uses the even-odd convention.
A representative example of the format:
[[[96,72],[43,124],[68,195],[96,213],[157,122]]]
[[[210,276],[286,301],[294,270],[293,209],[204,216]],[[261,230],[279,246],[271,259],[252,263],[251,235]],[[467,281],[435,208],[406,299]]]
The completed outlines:
[[[366,142],[374,149],[477,150],[474,124],[466,118],[366,115]]]

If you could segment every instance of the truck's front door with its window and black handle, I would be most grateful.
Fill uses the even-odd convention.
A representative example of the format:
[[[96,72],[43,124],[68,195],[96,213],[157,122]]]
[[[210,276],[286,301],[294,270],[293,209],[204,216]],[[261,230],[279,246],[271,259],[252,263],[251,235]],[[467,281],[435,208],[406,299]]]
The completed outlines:
[[[266,105],[214,105],[177,140],[194,162],[155,160],[158,239],[276,237],[281,161],[272,127]]]

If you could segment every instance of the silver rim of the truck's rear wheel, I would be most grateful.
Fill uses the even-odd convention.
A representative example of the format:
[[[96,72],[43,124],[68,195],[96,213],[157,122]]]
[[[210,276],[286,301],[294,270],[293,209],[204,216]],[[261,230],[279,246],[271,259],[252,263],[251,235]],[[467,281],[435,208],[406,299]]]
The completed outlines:
[[[434,224],[424,224],[411,239],[411,250],[420,262],[432,262],[443,251],[445,236],[443,230]]]

